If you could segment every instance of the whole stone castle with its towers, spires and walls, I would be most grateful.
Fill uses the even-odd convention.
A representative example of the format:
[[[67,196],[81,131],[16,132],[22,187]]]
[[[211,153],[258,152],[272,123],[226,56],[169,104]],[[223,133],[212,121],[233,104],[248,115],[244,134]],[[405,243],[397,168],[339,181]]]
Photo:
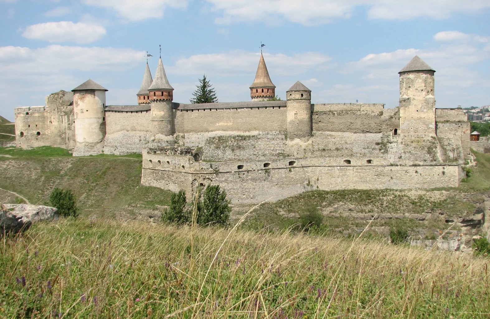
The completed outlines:
[[[456,187],[470,156],[461,109],[436,108],[435,71],[415,56],[399,72],[399,107],[311,103],[299,81],[272,100],[263,55],[251,101],[182,104],[160,58],[148,64],[137,105],[106,105],[88,80],[45,106],[15,109],[18,147],[56,146],[73,156],[143,152],[142,184],[194,194],[220,184],[233,203],[308,190]]]

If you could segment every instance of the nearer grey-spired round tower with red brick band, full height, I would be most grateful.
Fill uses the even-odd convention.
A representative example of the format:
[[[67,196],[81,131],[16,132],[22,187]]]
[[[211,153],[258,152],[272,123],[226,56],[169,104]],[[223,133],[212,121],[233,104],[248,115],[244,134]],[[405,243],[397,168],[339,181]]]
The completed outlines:
[[[167,74],[165,74],[162,58],[158,60],[155,78],[148,88],[148,92],[151,104],[151,132],[154,136],[172,136],[173,88],[167,79]]]

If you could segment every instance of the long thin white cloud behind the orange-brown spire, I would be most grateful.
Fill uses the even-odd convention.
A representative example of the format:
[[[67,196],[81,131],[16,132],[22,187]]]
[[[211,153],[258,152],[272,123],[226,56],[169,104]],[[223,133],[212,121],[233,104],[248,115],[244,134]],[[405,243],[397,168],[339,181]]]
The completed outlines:
[[[249,75],[255,74],[260,53],[241,50],[226,53],[197,54],[180,58],[175,66],[169,67],[173,74],[215,74],[215,75]],[[324,66],[331,58],[319,52],[298,53],[292,56],[277,53],[264,53],[270,74],[301,74],[309,69]]]

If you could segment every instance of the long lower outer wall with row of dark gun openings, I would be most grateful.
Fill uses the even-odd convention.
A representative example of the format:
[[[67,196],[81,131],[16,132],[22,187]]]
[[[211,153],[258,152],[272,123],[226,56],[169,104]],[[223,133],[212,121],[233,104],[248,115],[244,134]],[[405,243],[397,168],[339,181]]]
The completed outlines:
[[[219,184],[233,203],[258,203],[310,190],[457,187],[459,165],[379,165],[364,158],[284,158],[204,163],[193,157],[143,154],[142,185],[194,195],[198,185]]]

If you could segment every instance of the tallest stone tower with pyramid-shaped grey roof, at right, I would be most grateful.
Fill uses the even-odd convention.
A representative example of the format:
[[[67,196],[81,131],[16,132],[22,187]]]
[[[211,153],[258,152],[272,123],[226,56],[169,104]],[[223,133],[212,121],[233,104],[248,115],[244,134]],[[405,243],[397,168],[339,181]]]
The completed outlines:
[[[398,72],[401,134],[436,134],[435,72],[417,55]]]

